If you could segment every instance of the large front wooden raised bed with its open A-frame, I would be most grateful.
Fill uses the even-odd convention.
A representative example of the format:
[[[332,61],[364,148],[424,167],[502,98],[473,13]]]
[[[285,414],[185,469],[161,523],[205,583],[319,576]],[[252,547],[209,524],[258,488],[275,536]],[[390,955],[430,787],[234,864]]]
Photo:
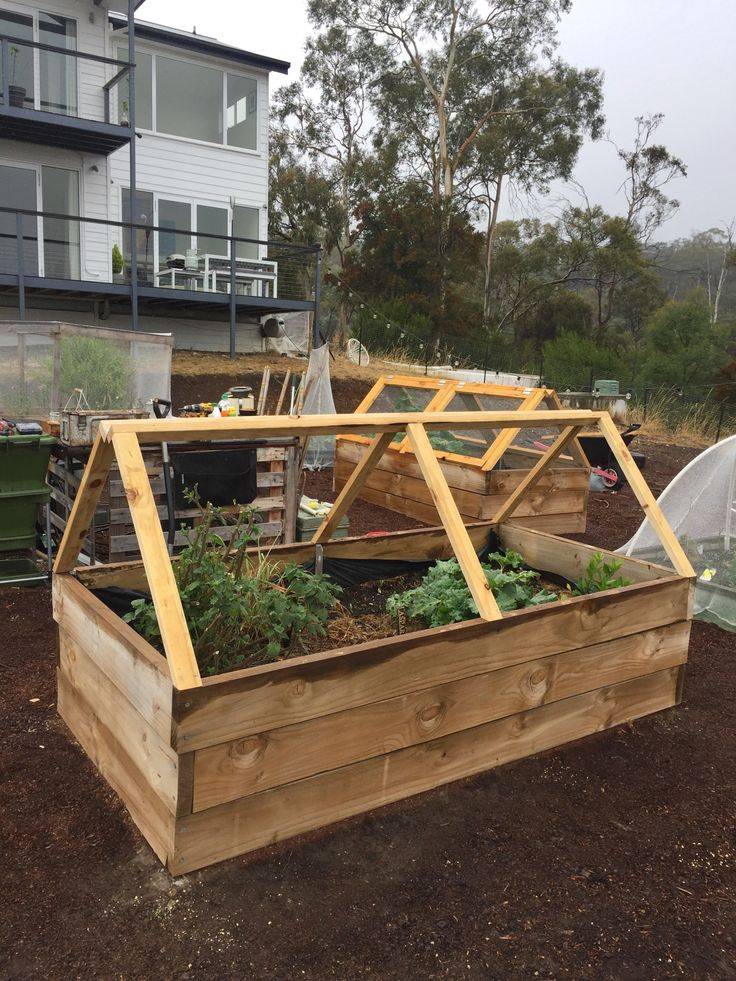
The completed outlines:
[[[531,413],[522,414],[529,416]],[[470,414],[468,414],[470,416]],[[515,413],[462,422],[503,429]],[[59,711],[172,873],[292,835],[578,739],[679,702],[690,630],[692,569],[610,418],[544,413],[562,427],[491,522],[466,528],[426,428],[444,414],[164,420],[101,430],[59,551]],[[536,424],[534,420],[533,424]],[[595,551],[507,522],[518,501],[583,426],[599,425],[676,572],[623,560],[632,585],[501,615],[476,550],[495,528],[533,567],[578,578]],[[216,428],[215,428],[216,426]],[[377,433],[312,543],[270,558],[426,560],[453,553],[480,617],[449,627],[202,679],[186,631],[139,440]],[[330,541],[388,441],[405,428],[443,527]],[[142,562],[74,570],[96,494],[116,455]],[[174,562],[176,559],[174,559]],[[167,657],[91,589],[148,584]]]

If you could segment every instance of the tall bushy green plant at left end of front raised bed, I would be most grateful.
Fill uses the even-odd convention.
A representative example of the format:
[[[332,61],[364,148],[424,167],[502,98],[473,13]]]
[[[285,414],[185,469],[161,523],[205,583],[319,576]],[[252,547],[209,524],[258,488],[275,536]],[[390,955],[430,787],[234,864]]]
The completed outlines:
[[[324,636],[340,587],[322,575],[289,562],[269,559],[259,549],[255,512],[240,508],[233,536],[217,534],[221,509],[207,505],[203,521],[174,563],[174,576],[194,653],[203,674],[219,674],[251,664],[303,653]],[[149,643],[162,648],[153,603],[133,601],[124,618]]]

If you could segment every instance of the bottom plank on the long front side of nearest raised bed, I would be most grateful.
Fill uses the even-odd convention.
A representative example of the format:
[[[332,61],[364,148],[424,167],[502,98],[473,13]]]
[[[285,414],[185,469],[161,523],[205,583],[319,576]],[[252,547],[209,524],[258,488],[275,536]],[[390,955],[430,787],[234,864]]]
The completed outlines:
[[[200,868],[668,708],[677,672],[668,668],[192,814],[177,822],[169,869]]]

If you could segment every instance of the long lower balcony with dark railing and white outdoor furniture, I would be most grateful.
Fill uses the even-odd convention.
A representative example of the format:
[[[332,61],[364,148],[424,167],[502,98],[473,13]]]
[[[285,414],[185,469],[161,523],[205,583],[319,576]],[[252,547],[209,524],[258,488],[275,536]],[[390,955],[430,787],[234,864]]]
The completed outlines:
[[[319,251],[211,228],[0,208],[0,296],[17,297],[21,319],[35,297],[234,323],[239,312],[313,311]]]

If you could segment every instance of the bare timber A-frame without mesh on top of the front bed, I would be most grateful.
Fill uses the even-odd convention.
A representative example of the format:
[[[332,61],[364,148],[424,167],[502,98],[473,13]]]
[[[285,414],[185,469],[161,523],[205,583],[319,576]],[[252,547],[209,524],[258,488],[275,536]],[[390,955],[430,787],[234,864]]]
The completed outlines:
[[[370,443],[366,452],[340,492],[329,515],[315,533],[312,541],[316,544],[329,540],[332,531],[358,496],[367,476],[391,441],[397,433],[406,433],[452,550],[478,607],[479,616],[485,620],[498,620],[502,613],[488,586],[428,433],[459,427],[475,431],[490,429],[498,433],[493,444],[495,446],[499,440],[505,442],[509,430],[518,431],[524,427],[539,426],[554,428],[559,431],[559,435],[549,449],[540,455],[539,461],[496,513],[493,524],[500,524],[512,516],[519,502],[537,484],[546,468],[559,457],[571,440],[576,439],[583,428],[598,428],[616,456],[674,568],[682,576],[694,576],[680,543],[662,515],[608,413],[565,409],[102,422],[59,547],[54,573],[60,575],[73,571],[115,458],[130,507],[173,685],[179,691],[200,687],[202,678],[141,454],[141,444],[216,442],[294,435],[308,437],[368,434]]]

